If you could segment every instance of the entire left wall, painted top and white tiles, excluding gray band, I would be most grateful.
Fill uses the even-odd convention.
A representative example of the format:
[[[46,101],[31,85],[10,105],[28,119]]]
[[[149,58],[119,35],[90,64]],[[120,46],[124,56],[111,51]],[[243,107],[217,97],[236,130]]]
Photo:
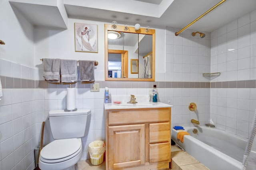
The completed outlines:
[[[20,82],[20,78],[33,80],[33,26],[18,12],[14,14],[8,0],[0,0],[0,11],[0,39],[6,43],[0,45],[0,75],[19,78]],[[33,107],[36,106],[35,99],[40,96],[35,94],[36,91],[14,87],[3,90],[4,97],[0,101],[0,170],[32,170],[34,167],[34,147],[40,137],[36,130],[40,131],[41,125],[36,122],[42,120],[42,113],[44,115]],[[37,125],[39,127],[35,128]]]

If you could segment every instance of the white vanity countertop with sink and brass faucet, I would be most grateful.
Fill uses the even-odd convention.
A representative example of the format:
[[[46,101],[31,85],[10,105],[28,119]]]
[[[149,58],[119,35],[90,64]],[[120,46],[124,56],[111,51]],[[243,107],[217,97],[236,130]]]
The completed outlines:
[[[164,104],[161,102],[138,102],[136,104],[114,104],[114,103],[104,103],[105,110],[111,109],[142,109],[142,108],[159,108],[159,107],[173,107],[169,104]]]

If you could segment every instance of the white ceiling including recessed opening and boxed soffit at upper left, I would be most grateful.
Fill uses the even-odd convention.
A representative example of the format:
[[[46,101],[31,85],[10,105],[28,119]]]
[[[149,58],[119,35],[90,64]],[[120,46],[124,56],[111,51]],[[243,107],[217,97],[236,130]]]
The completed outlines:
[[[155,28],[166,26],[182,28],[220,0],[9,0],[9,2],[35,26],[66,29],[63,26],[67,25],[64,11],[68,18],[106,23],[116,20],[121,25],[128,23],[133,26],[135,23],[140,23],[142,27],[150,25]],[[56,6],[52,5],[53,2]],[[64,10],[60,6],[64,6]],[[226,0],[188,29],[211,32],[253,10],[256,10],[256,0]],[[62,22],[60,18],[63,19]]]

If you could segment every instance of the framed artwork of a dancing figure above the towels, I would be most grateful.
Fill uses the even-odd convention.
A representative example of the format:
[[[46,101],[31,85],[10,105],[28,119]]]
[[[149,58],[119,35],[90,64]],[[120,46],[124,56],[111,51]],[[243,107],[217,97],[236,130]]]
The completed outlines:
[[[74,23],[75,51],[98,53],[98,25]]]

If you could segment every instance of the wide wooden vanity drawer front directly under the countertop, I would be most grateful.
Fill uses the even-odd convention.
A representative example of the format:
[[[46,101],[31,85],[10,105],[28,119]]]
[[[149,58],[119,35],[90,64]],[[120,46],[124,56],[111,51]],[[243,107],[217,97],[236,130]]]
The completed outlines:
[[[171,108],[109,110],[108,125],[170,121]]]

